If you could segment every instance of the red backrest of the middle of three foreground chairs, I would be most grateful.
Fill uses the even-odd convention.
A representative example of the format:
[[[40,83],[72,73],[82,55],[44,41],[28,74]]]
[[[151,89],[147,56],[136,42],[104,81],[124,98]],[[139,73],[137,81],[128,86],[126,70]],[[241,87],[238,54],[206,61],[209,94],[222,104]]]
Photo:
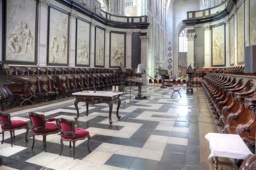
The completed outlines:
[[[31,126],[35,130],[45,130],[45,118],[44,114],[38,114],[36,112],[29,112],[29,119]]]

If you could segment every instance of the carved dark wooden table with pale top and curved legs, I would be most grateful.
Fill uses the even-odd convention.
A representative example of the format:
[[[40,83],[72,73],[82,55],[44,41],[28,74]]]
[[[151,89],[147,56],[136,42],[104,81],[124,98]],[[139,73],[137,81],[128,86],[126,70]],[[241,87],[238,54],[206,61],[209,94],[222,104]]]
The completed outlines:
[[[76,116],[75,120],[77,120],[79,118],[79,108],[78,108],[79,102],[86,103],[86,116],[88,116],[88,113],[89,113],[89,104],[106,103],[109,106],[109,123],[112,124],[113,121],[111,119],[111,115],[112,115],[112,109],[113,109],[113,102],[117,103],[116,117],[118,119],[121,118],[121,116],[119,116],[119,114],[118,114],[119,107],[121,105],[121,100],[119,98],[120,94],[122,94],[122,92],[89,91],[89,93],[81,93],[81,92],[73,93],[72,95],[76,96],[76,101],[74,104],[76,107],[77,116]]]

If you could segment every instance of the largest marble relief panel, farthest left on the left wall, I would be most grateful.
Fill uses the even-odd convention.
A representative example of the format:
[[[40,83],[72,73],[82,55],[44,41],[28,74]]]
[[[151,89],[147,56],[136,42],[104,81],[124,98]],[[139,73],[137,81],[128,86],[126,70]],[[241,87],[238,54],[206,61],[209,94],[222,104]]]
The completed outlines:
[[[35,62],[36,0],[6,1],[6,61]]]

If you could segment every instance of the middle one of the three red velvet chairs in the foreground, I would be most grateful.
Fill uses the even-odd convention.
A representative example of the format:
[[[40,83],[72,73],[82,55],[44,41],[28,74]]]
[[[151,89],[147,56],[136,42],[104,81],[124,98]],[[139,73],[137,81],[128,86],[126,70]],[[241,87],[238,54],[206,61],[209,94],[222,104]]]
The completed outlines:
[[[44,119],[44,114],[38,114],[36,112],[29,112],[29,118],[32,126],[33,133],[33,145],[35,144],[35,135],[43,135],[44,152],[46,152],[46,136],[50,134],[59,133],[60,129],[55,123],[49,123],[56,121],[55,118]]]

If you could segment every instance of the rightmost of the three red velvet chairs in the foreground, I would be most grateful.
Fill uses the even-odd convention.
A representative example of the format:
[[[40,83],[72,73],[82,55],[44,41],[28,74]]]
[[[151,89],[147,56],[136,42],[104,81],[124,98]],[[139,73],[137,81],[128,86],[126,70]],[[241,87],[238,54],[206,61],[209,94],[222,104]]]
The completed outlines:
[[[88,138],[88,150],[89,153],[90,150],[90,135],[87,130],[83,130],[81,128],[75,128],[75,121],[70,121],[65,118],[58,118],[57,120],[58,127],[61,130],[61,152],[63,148],[63,141],[70,141],[70,147],[71,147],[71,141],[73,142],[73,158],[76,157],[76,141],[84,140],[85,138]]]

